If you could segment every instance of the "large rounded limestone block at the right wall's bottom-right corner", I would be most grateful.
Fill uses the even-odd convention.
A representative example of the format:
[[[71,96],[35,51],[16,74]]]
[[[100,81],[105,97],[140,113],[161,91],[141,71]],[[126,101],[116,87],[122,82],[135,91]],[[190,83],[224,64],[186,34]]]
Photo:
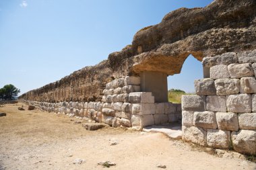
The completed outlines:
[[[234,151],[256,155],[256,130],[239,130],[232,132]]]

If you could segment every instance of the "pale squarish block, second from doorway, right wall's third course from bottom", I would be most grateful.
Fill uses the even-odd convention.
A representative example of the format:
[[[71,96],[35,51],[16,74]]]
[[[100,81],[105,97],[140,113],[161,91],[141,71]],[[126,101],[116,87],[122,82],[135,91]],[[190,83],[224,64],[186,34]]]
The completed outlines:
[[[212,112],[226,112],[226,97],[217,95],[207,96],[206,110]]]

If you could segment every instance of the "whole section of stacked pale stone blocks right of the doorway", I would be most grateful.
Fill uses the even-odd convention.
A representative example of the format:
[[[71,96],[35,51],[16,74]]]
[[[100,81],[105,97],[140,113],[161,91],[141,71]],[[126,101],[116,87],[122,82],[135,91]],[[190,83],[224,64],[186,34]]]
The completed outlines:
[[[203,59],[210,78],[182,97],[183,139],[256,154],[256,50]]]

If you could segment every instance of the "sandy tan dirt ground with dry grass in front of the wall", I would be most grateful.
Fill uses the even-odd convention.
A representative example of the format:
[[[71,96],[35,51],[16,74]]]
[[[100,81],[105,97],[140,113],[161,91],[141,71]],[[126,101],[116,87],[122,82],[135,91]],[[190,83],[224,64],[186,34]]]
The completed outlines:
[[[24,103],[4,105],[0,112],[0,169],[256,169],[245,159],[220,158],[198,151],[181,140],[152,134],[103,128],[85,130],[74,118],[39,110],[19,111]],[[117,144],[110,146],[110,142]],[[82,164],[73,164],[84,159]]]

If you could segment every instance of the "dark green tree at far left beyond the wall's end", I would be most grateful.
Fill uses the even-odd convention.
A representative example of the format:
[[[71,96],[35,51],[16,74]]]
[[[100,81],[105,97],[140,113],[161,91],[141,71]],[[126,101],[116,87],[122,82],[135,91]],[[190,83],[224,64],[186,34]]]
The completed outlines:
[[[20,89],[17,89],[14,85],[5,85],[0,89],[0,99],[12,100],[15,99],[18,93],[20,93]]]

